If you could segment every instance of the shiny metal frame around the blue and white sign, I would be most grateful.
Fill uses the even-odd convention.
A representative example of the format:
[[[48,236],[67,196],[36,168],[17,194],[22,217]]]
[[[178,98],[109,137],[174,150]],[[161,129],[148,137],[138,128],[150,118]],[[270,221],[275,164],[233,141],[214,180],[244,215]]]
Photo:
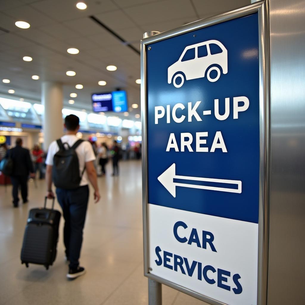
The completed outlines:
[[[269,229],[269,180],[270,180],[270,51],[269,51],[269,7],[268,0],[259,1],[217,16],[186,24],[141,41],[141,112],[142,112],[142,188],[143,188],[143,243],[144,275],[211,305],[225,303],[204,296],[149,272],[149,229],[148,229],[148,179],[147,179],[147,88],[146,47],[157,41],[168,39],[213,24],[258,13],[259,19],[259,104],[260,104],[260,181],[258,223],[258,285],[257,304],[267,304],[268,272],[268,229]]]

